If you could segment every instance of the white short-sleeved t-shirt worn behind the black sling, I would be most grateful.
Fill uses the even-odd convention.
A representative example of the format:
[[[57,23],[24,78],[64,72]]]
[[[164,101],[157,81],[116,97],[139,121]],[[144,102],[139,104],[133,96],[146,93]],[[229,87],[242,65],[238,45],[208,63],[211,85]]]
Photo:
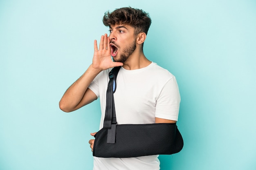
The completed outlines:
[[[106,109],[108,73],[95,77],[89,88],[100,98],[103,128]],[[155,63],[136,69],[123,67],[117,75],[114,93],[117,124],[153,124],[155,117],[178,120],[180,93],[176,78]],[[94,170],[159,170],[158,155],[135,158],[94,157]]]

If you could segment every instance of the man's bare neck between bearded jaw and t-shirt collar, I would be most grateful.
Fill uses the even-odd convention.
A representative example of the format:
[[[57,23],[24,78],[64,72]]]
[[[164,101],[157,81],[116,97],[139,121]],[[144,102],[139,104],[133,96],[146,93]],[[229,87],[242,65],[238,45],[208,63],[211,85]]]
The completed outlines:
[[[135,51],[129,56],[129,58],[124,62],[123,67],[126,70],[135,70],[144,68],[149,64],[151,64],[151,62],[146,58],[143,51],[136,48]]]

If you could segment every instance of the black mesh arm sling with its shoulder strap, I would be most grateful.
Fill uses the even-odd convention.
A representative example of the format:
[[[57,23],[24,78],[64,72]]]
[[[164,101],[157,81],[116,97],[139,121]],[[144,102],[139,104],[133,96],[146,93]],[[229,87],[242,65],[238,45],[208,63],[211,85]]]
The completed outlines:
[[[117,124],[113,93],[120,68],[109,73],[106,114],[103,128],[94,135],[93,156],[128,158],[180,152],[183,139],[176,123]]]

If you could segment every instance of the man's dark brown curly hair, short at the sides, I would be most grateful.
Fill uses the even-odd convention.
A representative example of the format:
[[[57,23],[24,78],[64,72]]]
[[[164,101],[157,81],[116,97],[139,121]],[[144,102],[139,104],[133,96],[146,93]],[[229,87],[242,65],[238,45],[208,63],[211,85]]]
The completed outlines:
[[[141,9],[124,7],[113,12],[106,12],[103,16],[103,24],[105,26],[116,24],[130,25],[135,29],[134,34],[136,36],[139,33],[148,33],[151,19],[149,14]]]

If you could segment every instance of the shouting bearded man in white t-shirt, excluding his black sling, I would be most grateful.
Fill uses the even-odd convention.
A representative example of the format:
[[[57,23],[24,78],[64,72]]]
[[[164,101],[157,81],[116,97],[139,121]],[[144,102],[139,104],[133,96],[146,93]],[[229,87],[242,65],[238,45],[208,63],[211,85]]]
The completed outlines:
[[[176,79],[167,70],[149,61],[143,53],[143,44],[151,24],[148,13],[130,7],[116,9],[112,13],[105,13],[103,23],[109,26],[110,35],[101,36],[99,48],[94,40],[92,64],[67,89],[59,103],[61,110],[71,112],[100,98],[102,128],[108,73],[112,67],[122,66],[114,93],[117,123],[176,122],[180,105]],[[95,134],[91,133],[92,136]],[[89,144],[93,149],[94,139]],[[94,170],[159,170],[159,160],[157,155],[135,158],[94,157]]]

